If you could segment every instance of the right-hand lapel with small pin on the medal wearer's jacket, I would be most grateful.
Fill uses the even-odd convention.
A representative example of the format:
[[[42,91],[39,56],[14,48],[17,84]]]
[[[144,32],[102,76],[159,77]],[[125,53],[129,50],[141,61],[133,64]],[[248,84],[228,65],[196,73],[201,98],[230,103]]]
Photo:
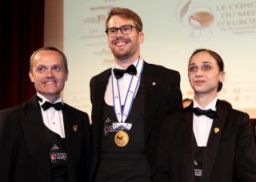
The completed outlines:
[[[144,61],[144,68],[142,72],[142,79],[146,83],[146,96],[145,96],[145,138],[148,137],[150,130],[154,125],[155,113],[158,108],[159,101],[159,86],[158,86],[158,77],[156,75],[155,69],[150,67]]]

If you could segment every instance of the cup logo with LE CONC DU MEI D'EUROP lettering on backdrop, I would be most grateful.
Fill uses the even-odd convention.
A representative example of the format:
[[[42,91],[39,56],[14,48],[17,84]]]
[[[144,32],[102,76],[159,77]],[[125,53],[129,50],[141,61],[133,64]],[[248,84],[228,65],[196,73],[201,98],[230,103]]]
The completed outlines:
[[[176,17],[190,29],[194,41],[206,42],[213,30],[223,34],[255,34],[256,2],[254,0],[179,0]]]

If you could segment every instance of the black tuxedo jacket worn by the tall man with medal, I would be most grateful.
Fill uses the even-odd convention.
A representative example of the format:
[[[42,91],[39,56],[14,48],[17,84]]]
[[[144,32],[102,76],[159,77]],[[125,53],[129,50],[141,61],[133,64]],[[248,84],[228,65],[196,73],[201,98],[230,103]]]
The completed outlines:
[[[102,106],[106,85],[111,69],[98,74],[90,81],[90,99],[92,103],[92,179],[98,165],[98,152],[102,134]],[[150,166],[153,164],[158,133],[163,117],[171,110],[182,109],[180,75],[177,71],[144,61],[142,79],[146,81],[145,138],[146,155]],[[91,179],[91,180],[92,180]]]

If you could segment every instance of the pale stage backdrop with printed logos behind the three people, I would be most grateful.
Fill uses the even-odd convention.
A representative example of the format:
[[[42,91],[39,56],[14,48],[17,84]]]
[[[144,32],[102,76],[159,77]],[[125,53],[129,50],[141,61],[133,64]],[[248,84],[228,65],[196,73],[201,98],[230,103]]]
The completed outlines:
[[[114,6],[138,13],[141,56],[181,73],[183,98],[193,97],[187,65],[194,49],[213,49],[225,62],[219,97],[256,117],[255,0],[64,0],[64,52],[70,67],[64,99],[90,113],[90,78],[110,68],[105,20]]]

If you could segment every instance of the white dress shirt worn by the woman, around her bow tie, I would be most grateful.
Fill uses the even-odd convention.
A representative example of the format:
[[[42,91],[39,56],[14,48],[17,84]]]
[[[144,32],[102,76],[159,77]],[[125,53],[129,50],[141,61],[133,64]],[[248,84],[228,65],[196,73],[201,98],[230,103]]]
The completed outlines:
[[[210,102],[205,108],[202,108],[198,103],[193,99],[193,107],[200,109],[212,109],[216,111],[216,102],[218,98],[215,97],[213,101]],[[193,131],[194,137],[197,141],[198,147],[206,147],[207,141],[210,135],[211,125],[213,124],[213,119],[206,117],[205,115],[196,116],[193,114]]]

